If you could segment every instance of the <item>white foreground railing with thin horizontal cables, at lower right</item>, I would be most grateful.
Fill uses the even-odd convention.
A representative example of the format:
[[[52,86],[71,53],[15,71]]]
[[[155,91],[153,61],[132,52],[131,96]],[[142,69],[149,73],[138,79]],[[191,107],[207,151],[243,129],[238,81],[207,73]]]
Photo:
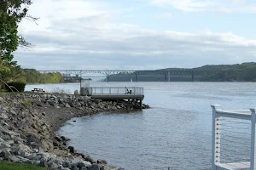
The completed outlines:
[[[256,170],[255,109],[224,111],[212,105],[212,170]]]

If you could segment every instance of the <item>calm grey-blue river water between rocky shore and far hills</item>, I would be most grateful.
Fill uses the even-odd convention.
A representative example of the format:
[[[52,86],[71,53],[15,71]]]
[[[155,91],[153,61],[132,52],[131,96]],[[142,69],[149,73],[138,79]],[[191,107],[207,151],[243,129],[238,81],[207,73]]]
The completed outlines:
[[[210,169],[212,109],[256,106],[256,83],[251,82],[128,82],[145,88],[144,103],[152,109],[130,114],[102,113],[74,118],[61,128],[71,145],[95,159],[143,169]],[[127,82],[92,82],[91,86],[129,86]],[[79,84],[27,86],[65,88]]]

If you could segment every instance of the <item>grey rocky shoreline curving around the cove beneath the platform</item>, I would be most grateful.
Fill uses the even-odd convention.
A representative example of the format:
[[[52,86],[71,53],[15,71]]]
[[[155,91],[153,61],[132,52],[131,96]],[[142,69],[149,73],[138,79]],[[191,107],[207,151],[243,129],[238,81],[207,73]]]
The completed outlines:
[[[107,111],[134,111],[136,102],[102,101],[62,94],[0,94],[0,161],[28,163],[60,170],[121,170],[94,161],[55,132],[67,120]],[[149,108],[143,105],[143,109]]]

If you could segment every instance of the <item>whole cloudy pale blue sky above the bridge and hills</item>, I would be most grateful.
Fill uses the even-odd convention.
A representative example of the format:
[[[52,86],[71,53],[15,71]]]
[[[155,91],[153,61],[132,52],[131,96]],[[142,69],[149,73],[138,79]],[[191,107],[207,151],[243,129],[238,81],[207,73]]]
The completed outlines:
[[[32,0],[23,68],[136,69],[256,62],[256,0]]]

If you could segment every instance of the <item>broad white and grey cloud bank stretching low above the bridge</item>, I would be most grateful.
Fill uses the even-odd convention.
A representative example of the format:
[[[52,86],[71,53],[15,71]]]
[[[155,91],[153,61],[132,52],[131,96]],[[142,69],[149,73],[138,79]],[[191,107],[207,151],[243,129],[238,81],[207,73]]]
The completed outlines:
[[[117,12],[108,4],[80,0],[45,2],[36,1],[30,10],[30,14],[40,16],[38,26],[27,20],[21,23],[20,33],[34,45],[15,52],[15,60],[22,67],[156,69],[256,60],[256,40],[231,32],[192,34],[142,29],[113,22]]]

